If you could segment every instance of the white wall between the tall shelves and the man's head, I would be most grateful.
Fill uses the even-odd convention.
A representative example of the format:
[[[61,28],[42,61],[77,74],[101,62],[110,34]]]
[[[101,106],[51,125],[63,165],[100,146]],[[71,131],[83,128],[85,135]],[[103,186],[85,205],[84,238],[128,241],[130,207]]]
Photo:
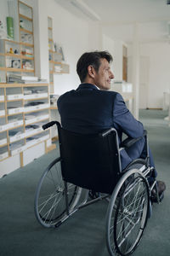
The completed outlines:
[[[54,93],[76,89],[80,84],[77,76],[77,60],[88,50],[88,22],[71,15],[67,10],[48,0],[48,16],[53,19],[53,39],[61,44],[65,62],[70,65],[69,74],[54,75]]]

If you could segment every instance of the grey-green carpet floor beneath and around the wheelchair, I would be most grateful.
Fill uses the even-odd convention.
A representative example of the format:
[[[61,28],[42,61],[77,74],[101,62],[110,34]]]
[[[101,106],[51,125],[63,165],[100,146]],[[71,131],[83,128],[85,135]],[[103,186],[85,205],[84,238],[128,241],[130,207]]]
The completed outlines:
[[[136,256],[170,255],[170,127],[164,111],[140,111],[140,119],[149,133],[158,179],[167,190],[160,205],[154,205]],[[0,179],[0,255],[109,256],[105,247],[107,202],[83,208],[59,229],[45,229],[37,223],[33,201],[43,170],[59,150],[34,160]]]

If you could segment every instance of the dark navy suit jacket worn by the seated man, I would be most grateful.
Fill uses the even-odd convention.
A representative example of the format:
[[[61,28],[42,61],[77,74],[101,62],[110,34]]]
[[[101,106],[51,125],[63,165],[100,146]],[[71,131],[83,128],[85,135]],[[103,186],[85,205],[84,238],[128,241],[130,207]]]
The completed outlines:
[[[119,93],[99,90],[93,84],[80,84],[77,90],[60,96],[58,108],[61,125],[68,131],[92,134],[114,127],[119,143],[122,142],[122,132],[127,134],[127,137],[134,138],[142,137],[144,132],[142,123],[134,119]],[[141,150],[139,152],[141,153]],[[121,151],[121,157],[124,169],[132,158],[125,150]]]

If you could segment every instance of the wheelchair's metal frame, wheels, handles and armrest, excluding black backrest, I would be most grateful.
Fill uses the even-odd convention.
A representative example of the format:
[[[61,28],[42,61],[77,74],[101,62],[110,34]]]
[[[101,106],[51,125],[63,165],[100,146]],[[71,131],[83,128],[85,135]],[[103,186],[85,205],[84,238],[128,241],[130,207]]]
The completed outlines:
[[[42,128],[45,130],[52,125],[57,125],[58,129],[60,127],[58,122],[53,121],[43,125]],[[108,136],[113,131],[116,132],[114,128],[111,128],[103,132],[102,136]],[[144,137],[147,142],[146,132]],[[122,148],[130,147],[139,139],[127,139],[122,143],[118,155],[120,168]],[[153,167],[149,166],[148,143],[146,143],[146,147],[146,159],[134,160],[127,166],[111,195],[100,193],[97,198],[92,200],[88,200],[88,189],[82,189],[63,180],[60,169],[62,158],[59,157],[54,160],[43,172],[37,185],[34,202],[37,221],[44,227],[58,228],[79,209],[96,201],[107,199],[109,201],[106,213],[106,245],[108,251],[111,256],[124,256],[133,253],[139,245],[150,215],[150,195],[153,188],[156,188],[157,203],[160,202],[156,180],[151,186],[147,181]],[[57,210],[59,213],[57,213]]]

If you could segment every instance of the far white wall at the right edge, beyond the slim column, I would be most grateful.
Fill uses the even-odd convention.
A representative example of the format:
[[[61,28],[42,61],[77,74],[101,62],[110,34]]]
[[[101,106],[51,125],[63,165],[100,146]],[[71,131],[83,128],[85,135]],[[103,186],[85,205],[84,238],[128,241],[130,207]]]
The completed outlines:
[[[150,58],[148,108],[162,108],[163,92],[170,89],[170,44],[141,44],[140,55]]]

